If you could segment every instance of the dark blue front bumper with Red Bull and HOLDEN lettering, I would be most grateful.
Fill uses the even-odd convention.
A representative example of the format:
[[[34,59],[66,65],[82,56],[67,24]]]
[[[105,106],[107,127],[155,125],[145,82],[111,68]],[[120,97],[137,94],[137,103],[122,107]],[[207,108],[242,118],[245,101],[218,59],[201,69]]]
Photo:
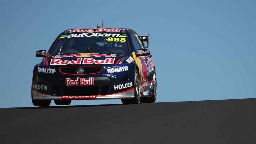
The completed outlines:
[[[129,77],[130,76],[130,77]],[[133,74],[40,75],[32,79],[33,99],[131,99]]]

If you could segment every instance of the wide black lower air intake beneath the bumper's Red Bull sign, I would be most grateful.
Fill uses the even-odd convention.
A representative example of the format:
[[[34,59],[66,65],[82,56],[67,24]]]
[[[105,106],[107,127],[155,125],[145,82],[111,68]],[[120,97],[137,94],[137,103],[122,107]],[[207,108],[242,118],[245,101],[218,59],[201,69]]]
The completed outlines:
[[[56,96],[106,95],[108,86],[64,86],[53,87]]]

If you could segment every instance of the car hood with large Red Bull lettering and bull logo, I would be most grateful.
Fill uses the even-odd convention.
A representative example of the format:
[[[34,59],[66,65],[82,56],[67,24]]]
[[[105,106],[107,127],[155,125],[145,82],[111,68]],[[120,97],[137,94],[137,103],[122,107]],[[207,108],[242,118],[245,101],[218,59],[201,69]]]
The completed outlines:
[[[128,53],[121,56],[116,56],[116,54],[75,53],[68,55],[47,55],[42,60],[42,63],[51,67],[109,67],[122,63],[128,57]]]

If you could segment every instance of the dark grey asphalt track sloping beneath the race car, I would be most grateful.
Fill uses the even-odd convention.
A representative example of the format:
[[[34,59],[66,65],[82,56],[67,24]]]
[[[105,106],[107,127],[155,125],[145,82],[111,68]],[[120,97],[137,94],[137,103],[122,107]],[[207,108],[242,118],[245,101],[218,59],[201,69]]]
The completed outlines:
[[[256,99],[0,109],[0,144],[256,143]]]

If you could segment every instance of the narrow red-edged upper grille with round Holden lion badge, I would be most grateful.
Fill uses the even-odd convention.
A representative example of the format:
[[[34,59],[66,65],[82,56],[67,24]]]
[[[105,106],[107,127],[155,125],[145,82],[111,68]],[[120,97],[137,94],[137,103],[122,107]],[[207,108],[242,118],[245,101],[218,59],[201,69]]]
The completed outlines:
[[[61,67],[60,72],[62,74],[69,74],[69,75],[88,75],[88,74],[97,74],[100,73],[102,67],[82,67],[84,69],[83,74],[78,74],[76,71],[80,67]]]

